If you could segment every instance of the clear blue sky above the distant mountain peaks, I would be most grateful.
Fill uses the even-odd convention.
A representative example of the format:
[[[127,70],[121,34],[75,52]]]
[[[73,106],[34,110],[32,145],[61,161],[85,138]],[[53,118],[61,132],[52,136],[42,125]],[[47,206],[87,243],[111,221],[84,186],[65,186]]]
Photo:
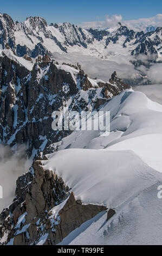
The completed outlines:
[[[153,17],[162,11],[161,0],[7,0],[1,1],[0,12],[8,13],[15,21],[28,16],[44,17],[50,22],[80,24],[84,21],[103,21],[105,16],[120,14],[123,20]]]

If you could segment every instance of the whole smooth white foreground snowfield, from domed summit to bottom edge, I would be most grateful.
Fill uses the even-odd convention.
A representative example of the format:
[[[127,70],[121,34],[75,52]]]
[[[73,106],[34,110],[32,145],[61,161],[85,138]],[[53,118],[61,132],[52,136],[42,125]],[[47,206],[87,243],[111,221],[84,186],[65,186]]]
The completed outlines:
[[[99,214],[61,244],[161,244],[162,107],[126,90],[102,109],[111,111],[109,136],[75,131],[42,162],[77,199],[107,205],[116,214],[108,222]]]

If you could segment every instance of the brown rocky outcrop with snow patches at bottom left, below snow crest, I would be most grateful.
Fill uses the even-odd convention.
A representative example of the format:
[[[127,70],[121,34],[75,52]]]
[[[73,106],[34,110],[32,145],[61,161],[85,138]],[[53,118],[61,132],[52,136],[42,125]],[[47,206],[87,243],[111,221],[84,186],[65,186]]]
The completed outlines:
[[[54,210],[56,206],[58,211]],[[56,173],[44,170],[42,162],[35,161],[30,172],[17,180],[16,198],[0,215],[0,241],[8,234],[3,244],[55,245],[106,210],[106,206],[76,200]]]

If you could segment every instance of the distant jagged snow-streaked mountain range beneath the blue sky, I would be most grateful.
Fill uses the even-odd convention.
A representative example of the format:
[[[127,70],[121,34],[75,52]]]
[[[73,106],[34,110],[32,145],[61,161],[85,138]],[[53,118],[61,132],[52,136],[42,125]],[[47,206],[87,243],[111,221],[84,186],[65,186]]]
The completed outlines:
[[[135,32],[120,22],[118,28],[107,30],[86,30],[69,22],[48,25],[41,17],[29,17],[20,23],[7,14],[0,14],[1,48],[8,45],[18,57],[81,51],[102,59],[118,55],[132,60],[133,56],[135,65],[146,65],[139,61],[141,54],[147,56],[149,62],[161,62],[162,28],[148,26],[147,31]]]

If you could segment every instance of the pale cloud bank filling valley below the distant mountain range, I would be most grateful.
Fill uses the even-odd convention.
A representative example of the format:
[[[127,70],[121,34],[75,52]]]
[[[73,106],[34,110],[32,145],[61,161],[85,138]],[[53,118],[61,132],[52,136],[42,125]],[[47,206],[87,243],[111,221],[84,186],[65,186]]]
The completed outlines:
[[[112,57],[111,60],[101,59],[93,56],[88,56],[81,52],[73,52],[60,54],[57,52],[53,53],[54,59],[59,62],[59,64],[71,63],[71,64],[81,64],[82,69],[91,78],[100,78],[101,80],[107,82],[111,77],[114,70],[117,75],[121,78],[130,79],[138,78],[139,74],[143,74],[147,77],[152,84],[162,84],[162,63],[152,64],[151,68],[148,69],[146,66],[139,66],[138,70],[134,69],[134,65],[129,62],[129,60],[141,60],[145,65],[150,63],[150,60],[155,58],[155,54],[144,55],[140,54],[137,59],[132,56],[128,58],[120,56]]]

